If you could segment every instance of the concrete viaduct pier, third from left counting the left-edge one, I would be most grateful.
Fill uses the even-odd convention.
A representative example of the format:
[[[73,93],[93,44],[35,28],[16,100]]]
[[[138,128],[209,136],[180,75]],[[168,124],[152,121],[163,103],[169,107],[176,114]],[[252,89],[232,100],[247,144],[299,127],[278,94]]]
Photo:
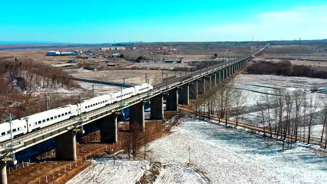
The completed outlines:
[[[109,116],[101,118],[100,122],[100,137],[102,143],[116,143],[118,142],[118,114],[112,113]]]

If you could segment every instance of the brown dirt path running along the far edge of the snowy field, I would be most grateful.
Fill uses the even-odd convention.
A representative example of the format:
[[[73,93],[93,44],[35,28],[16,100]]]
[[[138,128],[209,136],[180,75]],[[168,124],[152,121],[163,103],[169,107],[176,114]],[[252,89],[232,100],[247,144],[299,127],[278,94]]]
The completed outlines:
[[[189,108],[180,107],[180,106],[178,108],[181,109],[181,110],[184,110],[184,111],[195,113],[194,110],[189,109]],[[208,118],[207,114],[204,114],[204,117]],[[216,121],[219,121],[220,120],[220,122],[223,122],[223,123],[226,122],[226,119],[223,119],[223,118],[220,118],[219,119],[219,118],[214,117],[214,116],[209,116],[209,119],[216,120]],[[236,122],[235,121],[227,120],[227,124],[235,125],[236,126]],[[250,129],[250,130],[255,130],[255,131],[260,131],[260,132],[265,132],[265,133],[270,134],[270,129],[269,128],[265,128],[264,129],[263,127],[257,127],[257,126],[253,126],[253,125],[246,124],[246,123],[240,123],[240,122],[238,122],[238,126],[239,127],[243,127],[243,128],[247,128],[247,129]],[[274,134],[275,131],[272,130],[272,133]],[[286,137],[288,139],[295,140],[295,136],[294,135],[286,135]],[[308,139],[305,139],[303,137],[297,136],[297,140],[303,140],[303,139],[305,140],[306,143],[308,142]],[[319,142],[319,141],[309,140],[309,142],[310,142],[310,144],[315,144],[315,145],[319,145],[321,147],[325,147],[325,144],[322,143],[322,142]]]

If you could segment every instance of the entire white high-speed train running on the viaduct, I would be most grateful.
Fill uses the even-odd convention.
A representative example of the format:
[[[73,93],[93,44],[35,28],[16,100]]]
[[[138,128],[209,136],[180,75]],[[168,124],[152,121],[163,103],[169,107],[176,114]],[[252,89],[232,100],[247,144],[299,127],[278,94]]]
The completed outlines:
[[[119,102],[132,96],[148,92],[153,89],[150,83],[143,83],[133,87],[122,89],[116,93],[101,95],[99,97],[90,98],[76,105],[65,105],[51,110],[46,110],[13,120],[11,122],[12,136],[17,137],[21,134],[32,132],[34,130],[53,125],[55,123],[78,116],[82,113],[89,112],[108,104]],[[10,139],[10,123],[0,124],[0,142]]]

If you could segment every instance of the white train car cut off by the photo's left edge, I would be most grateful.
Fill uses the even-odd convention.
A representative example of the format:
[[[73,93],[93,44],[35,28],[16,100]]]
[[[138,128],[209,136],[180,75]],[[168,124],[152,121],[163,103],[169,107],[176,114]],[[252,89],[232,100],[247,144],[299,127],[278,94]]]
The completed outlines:
[[[12,136],[16,137],[27,133],[27,122],[24,119],[17,119],[11,122]],[[10,140],[10,123],[0,124],[0,142]]]

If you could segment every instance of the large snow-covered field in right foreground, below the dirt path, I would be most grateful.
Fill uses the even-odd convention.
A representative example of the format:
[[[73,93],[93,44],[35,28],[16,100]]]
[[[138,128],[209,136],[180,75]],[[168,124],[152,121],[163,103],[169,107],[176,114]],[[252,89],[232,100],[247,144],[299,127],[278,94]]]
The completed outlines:
[[[198,120],[185,121],[148,150],[161,162],[186,163],[189,146],[191,163],[212,183],[327,182],[327,157],[311,148],[282,151],[281,142]]]

